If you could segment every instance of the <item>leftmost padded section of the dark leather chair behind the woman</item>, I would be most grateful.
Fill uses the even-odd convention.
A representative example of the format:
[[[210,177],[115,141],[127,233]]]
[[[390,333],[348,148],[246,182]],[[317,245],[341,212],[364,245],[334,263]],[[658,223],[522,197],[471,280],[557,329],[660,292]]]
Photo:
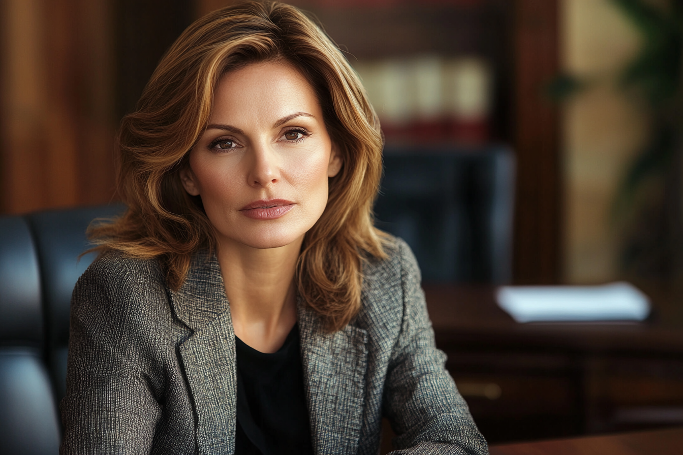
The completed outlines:
[[[20,216],[0,217],[0,239],[0,452],[57,454],[35,244]]]

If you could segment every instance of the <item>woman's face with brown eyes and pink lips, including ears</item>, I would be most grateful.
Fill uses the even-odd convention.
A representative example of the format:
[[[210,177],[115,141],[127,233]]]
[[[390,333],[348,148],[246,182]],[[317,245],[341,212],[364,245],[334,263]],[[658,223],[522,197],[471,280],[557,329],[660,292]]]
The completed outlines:
[[[327,204],[342,162],[313,87],[285,63],[225,74],[182,185],[201,196],[219,244],[276,248],[301,241]]]

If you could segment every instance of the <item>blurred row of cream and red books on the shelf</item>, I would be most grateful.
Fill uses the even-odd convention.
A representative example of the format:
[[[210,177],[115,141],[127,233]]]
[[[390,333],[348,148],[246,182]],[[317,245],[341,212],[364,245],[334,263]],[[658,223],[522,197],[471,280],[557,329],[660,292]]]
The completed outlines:
[[[418,54],[354,62],[387,145],[490,142],[491,65],[480,57]]]

